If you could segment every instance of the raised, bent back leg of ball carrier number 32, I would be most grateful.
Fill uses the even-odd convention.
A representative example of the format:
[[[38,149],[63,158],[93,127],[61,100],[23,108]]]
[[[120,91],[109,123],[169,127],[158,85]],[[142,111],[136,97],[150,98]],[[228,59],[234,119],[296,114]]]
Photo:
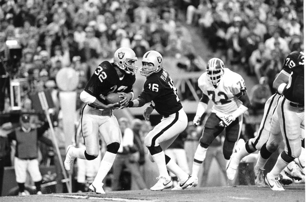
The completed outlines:
[[[81,111],[81,131],[86,148],[75,148],[69,145],[67,148],[64,166],[71,170],[75,158],[93,160],[99,155],[99,116],[101,111],[85,105]]]

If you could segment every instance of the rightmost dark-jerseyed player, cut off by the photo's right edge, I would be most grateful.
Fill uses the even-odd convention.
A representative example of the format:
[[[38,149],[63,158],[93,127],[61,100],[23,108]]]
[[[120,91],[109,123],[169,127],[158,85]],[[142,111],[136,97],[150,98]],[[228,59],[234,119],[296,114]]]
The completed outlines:
[[[285,150],[278,156],[277,162],[270,173],[265,177],[266,184],[276,191],[283,191],[279,183],[278,175],[289,163],[301,154],[301,124],[304,123],[304,53],[300,53],[297,63],[292,67],[287,84],[283,85],[280,97],[271,119],[270,137],[266,143],[264,156],[268,159],[272,152],[278,149],[282,141],[285,142]],[[279,135],[279,134],[282,134]],[[302,142],[303,144],[303,142]],[[302,147],[305,147],[302,145]],[[258,162],[257,162],[258,163]],[[296,180],[302,180],[303,176],[292,176]]]

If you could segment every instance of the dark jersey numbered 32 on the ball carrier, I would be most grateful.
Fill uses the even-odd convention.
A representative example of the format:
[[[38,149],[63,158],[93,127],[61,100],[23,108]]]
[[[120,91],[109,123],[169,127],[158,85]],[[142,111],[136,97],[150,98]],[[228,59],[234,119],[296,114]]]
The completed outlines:
[[[132,85],[135,79],[135,75],[125,73],[123,79],[120,80],[114,63],[104,61],[95,69],[84,91],[96,97],[103,104],[107,104],[100,95],[106,96],[111,92],[133,92]]]

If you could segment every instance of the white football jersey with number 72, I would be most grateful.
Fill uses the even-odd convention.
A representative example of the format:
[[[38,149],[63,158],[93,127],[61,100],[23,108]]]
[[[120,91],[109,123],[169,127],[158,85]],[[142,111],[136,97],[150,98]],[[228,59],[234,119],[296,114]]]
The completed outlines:
[[[235,95],[245,90],[244,80],[228,68],[224,68],[224,74],[217,88],[207,77],[207,72],[200,76],[198,85],[203,94],[214,102],[211,112],[218,115],[231,114],[242,104]]]

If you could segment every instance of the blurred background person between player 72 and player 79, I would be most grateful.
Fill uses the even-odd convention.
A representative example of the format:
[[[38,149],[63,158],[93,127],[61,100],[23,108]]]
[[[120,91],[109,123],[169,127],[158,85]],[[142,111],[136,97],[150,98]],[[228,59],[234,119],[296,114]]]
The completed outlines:
[[[268,86],[268,79],[266,77],[261,77],[259,79],[259,84],[256,84],[251,89],[251,108],[253,114],[257,114],[258,110],[263,110],[265,103],[268,98],[272,95],[271,90]]]

